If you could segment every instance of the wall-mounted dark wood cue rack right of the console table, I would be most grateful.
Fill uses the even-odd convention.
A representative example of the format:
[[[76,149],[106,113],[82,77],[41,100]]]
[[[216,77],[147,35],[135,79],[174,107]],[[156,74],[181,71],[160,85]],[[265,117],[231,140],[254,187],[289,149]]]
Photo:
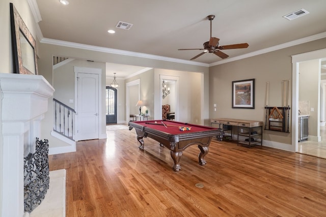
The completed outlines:
[[[265,107],[265,130],[289,133],[290,107]]]

